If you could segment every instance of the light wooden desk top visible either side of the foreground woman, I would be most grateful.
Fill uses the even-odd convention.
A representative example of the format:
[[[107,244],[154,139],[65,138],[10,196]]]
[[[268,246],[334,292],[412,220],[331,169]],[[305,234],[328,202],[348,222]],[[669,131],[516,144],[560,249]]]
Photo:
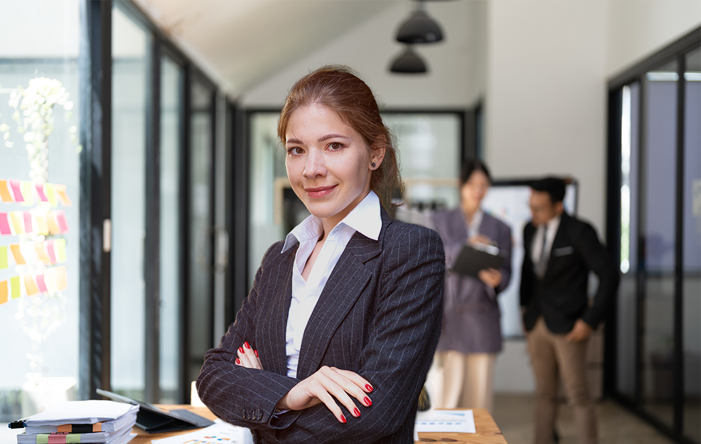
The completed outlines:
[[[205,407],[192,407],[190,405],[161,405],[161,407],[174,410],[178,408],[186,408],[192,412],[209,419],[216,419],[215,415]],[[499,430],[499,427],[494,422],[489,412],[484,408],[472,409],[475,415],[475,429],[477,433],[418,433],[418,444],[430,442],[451,442],[456,444],[507,444],[506,440]],[[189,433],[192,430],[172,431],[168,433],[146,433],[138,427],[134,427],[134,431],[139,433],[130,444],[151,444],[152,439],[168,438],[168,436],[180,435]]]

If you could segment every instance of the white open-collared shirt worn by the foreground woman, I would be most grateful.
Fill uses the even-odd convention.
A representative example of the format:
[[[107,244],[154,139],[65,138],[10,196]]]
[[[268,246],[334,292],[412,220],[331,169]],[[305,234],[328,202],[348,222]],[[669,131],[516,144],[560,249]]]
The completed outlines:
[[[295,241],[299,242],[292,266],[292,301],[285,330],[287,376],[297,377],[299,350],[302,347],[306,324],[351,237],[358,231],[365,237],[378,240],[381,228],[380,200],[370,191],[348,216],[331,230],[306,281],[302,277],[302,271],[324,231],[321,219],[314,215],[309,216],[285,237],[282,253],[290,249]]]

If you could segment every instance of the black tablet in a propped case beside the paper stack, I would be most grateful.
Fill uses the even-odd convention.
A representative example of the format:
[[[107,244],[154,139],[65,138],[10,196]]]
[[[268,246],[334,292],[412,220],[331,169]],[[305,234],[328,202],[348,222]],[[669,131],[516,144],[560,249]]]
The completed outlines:
[[[118,395],[111,391],[96,389],[97,394],[110,398],[113,401],[139,405],[136,415],[136,425],[146,433],[161,433],[164,431],[179,431],[200,429],[211,426],[213,421],[189,410],[165,410],[156,405],[137,401],[128,396]]]

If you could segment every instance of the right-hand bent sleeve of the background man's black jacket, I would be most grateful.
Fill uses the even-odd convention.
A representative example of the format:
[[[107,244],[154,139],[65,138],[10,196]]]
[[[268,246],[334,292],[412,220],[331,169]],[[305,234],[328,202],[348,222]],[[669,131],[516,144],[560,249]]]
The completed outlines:
[[[599,288],[594,295],[594,303],[582,315],[583,321],[592,328],[597,328],[615,299],[620,279],[618,268],[611,254],[608,254],[599,242],[597,232],[588,223],[584,223],[581,232],[574,236],[574,243],[587,267],[599,277]]]

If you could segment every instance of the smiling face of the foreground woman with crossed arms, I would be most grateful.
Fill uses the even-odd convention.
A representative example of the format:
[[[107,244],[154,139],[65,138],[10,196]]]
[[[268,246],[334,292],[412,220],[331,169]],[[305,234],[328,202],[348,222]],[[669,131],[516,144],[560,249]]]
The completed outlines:
[[[292,113],[285,149],[292,189],[309,212],[322,219],[325,230],[336,226],[369,193],[372,169],[380,166],[384,153],[371,154],[357,131],[335,111],[318,105]]]

